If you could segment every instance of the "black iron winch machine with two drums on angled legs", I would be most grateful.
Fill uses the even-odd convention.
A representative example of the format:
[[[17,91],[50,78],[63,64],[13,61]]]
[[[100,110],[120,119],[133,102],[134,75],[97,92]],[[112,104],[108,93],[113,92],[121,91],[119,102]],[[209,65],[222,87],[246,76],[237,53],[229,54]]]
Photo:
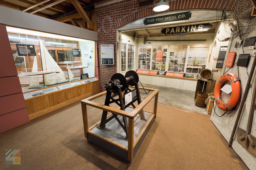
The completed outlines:
[[[130,70],[126,72],[125,76],[120,73],[114,74],[111,77],[111,80],[108,82],[108,84],[105,85],[107,94],[106,94],[104,105],[109,106],[109,104],[111,103],[116,103],[118,106],[120,106],[121,110],[125,110],[130,105],[132,105],[132,107],[135,108],[135,105],[133,104],[134,102],[137,101],[138,105],[141,103],[138,82],[139,82],[139,76],[135,71]],[[135,86],[135,89],[131,90],[129,89],[129,86]],[[124,97],[122,95],[123,91],[124,91]],[[112,93],[114,95],[112,95]],[[114,97],[116,96],[118,96],[118,98],[114,99]],[[125,131],[126,137],[124,139],[128,140],[128,124],[127,124],[126,117],[123,117],[123,122],[124,122],[123,124],[116,114],[112,113],[112,116],[109,118],[107,118],[107,115],[108,115],[108,111],[103,110],[101,121],[100,121],[100,124],[97,126],[97,128],[99,129],[105,128],[106,124],[110,120],[115,118]],[[140,111],[139,117],[140,117],[140,120],[147,121],[145,119],[143,110]]]

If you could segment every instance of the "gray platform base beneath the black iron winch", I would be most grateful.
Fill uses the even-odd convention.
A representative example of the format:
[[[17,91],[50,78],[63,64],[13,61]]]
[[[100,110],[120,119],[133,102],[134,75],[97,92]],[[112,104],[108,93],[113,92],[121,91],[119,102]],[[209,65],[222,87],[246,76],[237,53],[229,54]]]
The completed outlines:
[[[125,109],[125,111],[128,111],[128,112],[131,112],[132,110],[133,110],[133,108],[126,108]],[[144,111],[144,115],[145,115],[145,118],[147,119],[147,121],[140,120],[140,118],[138,118],[139,114],[134,118],[134,120],[136,120],[138,118],[137,121],[134,122],[134,137],[133,137],[134,141],[136,141],[137,137],[140,135],[140,132],[145,127],[145,125],[148,123],[150,117],[152,116],[152,113],[148,113],[148,112]],[[118,118],[123,123],[122,116],[118,115]],[[134,147],[133,156],[135,156],[136,152],[140,148],[140,145],[142,144],[144,138],[148,134],[148,131],[150,130],[154,121],[155,121],[155,118],[153,118],[150,121],[148,127],[146,128],[146,130],[142,134],[142,136],[141,136],[140,140],[138,141],[137,145]],[[128,118],[127,118],[127,122],[128,122]],[[118,124],[116,119],[112,119],[111,121],[109,121],[106,124],[106,127],[102,130],[95,127],[91,131],[93,133],[96,133],[96,134],[98,134],[98,135],[100,135],[104,138],[107,138],[107,139],[109,139],[113,142],[116,142],[117,144],[120,144],[120,145],[128,148],[128,141],[124,140],[125,132],[124,132],[123,128],[120,126],[120,124]],[[98,145],[101,148],[115,154],[116,156],[129,161],[127,159],[128,158],[128,152],[119,148],[119,147],[117,147],[116,145],[110,144],[110,143],[106,142],[105,140],[102,140],[102,139],[100,139],[100,138],[98,138],[94,135],[89,134],[89,133],[88,133],[88,139],[90,140],[90,142],[94,143],[95,145]]]

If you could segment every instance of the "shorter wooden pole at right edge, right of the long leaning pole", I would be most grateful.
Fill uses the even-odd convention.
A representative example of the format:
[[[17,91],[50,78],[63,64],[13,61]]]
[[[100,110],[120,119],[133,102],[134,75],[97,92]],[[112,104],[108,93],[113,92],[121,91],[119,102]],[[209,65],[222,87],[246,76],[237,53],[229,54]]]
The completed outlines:
[[[254,87],[253,87],[253,93],[252,93],[252,102],[251,102],[251,108],[250,108],[250,113],[248,117],[248,123],[247,123],[247,129],[246,129],[246,135],[245,135],[245,145],[249,146],[249,138],[248,136],[251,134],[252,130],[252,118],[253,118],[253,113],[254,113],[254,106],[255,106],[255,100],[256,100],[256,78],[254,81]]]

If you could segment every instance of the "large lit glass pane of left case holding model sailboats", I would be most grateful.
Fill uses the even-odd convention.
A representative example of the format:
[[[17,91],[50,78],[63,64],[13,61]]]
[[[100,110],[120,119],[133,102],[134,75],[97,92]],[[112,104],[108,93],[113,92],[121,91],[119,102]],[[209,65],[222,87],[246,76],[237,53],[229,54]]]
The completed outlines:
[[[6,27],[23,91],[95,77],[95,42]]]

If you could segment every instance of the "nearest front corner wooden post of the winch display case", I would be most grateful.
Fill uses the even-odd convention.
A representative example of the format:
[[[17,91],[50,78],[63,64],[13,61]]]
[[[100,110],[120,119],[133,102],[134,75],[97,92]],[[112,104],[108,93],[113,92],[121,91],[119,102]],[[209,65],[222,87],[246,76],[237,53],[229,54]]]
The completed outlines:
[[[126,118],[126,117],[125,117]],[[134,133],[134,118],[128,122],[128,160],[133,159],[133,133]]]

